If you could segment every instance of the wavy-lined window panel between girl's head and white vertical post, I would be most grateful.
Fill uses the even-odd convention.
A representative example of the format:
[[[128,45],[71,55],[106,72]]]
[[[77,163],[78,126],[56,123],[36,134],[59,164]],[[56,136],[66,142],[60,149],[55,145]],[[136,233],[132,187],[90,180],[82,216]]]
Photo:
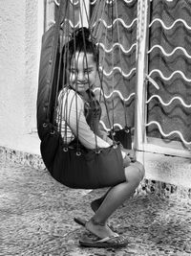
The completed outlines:
[[[102,85],[111,126],[134,126],[136,86],[137,0],[96,0],[91,26],[100,50]],[[98,85],[99,86],[99,85]],[[99,94],[99,88],[96,93]],[[110,128],[102,97],[102,124]]]

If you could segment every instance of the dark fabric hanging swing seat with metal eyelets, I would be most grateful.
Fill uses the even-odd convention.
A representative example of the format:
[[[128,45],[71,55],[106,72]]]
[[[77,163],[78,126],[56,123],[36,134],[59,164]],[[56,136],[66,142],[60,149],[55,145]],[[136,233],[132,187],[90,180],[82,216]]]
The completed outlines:
[[[70,147],[65,147],[60,132],[53,126],[53,106],[56,101],[53,97],[58,80],[59,58],[56,49],[53,65],[54,35],[53,27],[43,36],[40,59],[37,125],[42,158],[51,175],[68,187],[95,189],[114,186],[125,179],[120,146],[96,152],[81,145],[77,152],[73,147],[74,142]]]

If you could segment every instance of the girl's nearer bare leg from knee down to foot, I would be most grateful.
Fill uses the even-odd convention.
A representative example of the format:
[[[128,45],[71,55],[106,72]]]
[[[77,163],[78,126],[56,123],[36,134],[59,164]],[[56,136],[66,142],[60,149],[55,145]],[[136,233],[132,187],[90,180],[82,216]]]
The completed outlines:
[[[115,210],[135,192],[139,182],[143,178],[144,168],[140,163],[135,162],[131,163],[124,172],[126,181],[110,189],[106,198],[96,211],[95,216],[86,222],[86,228],[99,238],[105,238],[115,234],[106,222]]]

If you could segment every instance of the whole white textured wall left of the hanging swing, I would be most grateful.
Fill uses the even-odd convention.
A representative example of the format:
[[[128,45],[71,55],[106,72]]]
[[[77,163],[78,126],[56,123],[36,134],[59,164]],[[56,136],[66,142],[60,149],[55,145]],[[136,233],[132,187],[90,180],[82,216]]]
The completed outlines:
[[[35,128],[43,2],[0,4],[0,145],[13,149]]]

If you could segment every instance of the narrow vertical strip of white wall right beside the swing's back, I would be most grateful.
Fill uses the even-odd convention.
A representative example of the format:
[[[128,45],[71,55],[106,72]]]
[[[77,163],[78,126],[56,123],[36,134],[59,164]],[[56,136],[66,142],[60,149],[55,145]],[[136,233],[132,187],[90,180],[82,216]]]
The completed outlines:
[[[25,15],[25,128],[30,131],[35,127],[35,102],[37,92],[38,39],[37,0],[26,1]],[[30,96],[30,97],[29,97]]]

